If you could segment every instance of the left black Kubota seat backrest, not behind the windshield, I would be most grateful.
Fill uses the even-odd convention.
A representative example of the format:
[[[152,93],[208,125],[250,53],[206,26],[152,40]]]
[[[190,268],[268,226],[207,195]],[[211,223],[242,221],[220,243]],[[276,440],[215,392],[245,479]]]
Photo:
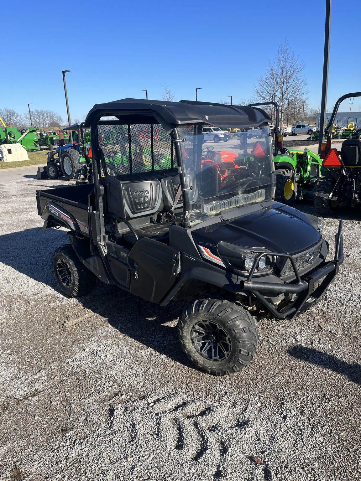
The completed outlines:
[[[107,177],[108,212],[123,219],[147,217],[163,209],[158,179],[126,182]]]

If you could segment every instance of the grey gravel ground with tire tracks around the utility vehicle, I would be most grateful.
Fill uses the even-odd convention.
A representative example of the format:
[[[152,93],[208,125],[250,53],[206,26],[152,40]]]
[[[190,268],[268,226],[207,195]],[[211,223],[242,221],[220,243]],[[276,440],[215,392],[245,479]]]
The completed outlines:
[[[361,479],[359,213],[343,215],[346,258],[322,301],[261,319],[252,364],[215,378],[181,353],[182,303],[139,317],[105,284],[60,294],[51,260],[67,238],[42,231],[35,190],[63,182],[32,174],[0,175],[0,479]],[[336,229],[326,218],[332,252]]]

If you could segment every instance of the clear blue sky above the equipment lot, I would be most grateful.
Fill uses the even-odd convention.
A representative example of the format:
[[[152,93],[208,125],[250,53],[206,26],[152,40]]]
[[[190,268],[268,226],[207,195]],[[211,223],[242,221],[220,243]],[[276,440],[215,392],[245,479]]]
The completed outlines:
[[[280,42],[306,63],[309,106],[321,103],[324,0],[79,1],[20,0],[1,21],[0,108],[49,109],[66,117],[62,70],[72,118],[94,103],[125,97],[233,102],[249,98]],[[77,5],[81,12],[77,13]],[[304,6],[303,6],[304,5]],[[59,10],[59,13],[58,13]],[[15,18],[16,14],[16,18]],[[361,1],[333,0],[328,105],[361,90]],[[350,45],[350,47],[348,46]],[[361,99],[353,110],[358,111]],[[340,110],[349,110],[348,101]]]

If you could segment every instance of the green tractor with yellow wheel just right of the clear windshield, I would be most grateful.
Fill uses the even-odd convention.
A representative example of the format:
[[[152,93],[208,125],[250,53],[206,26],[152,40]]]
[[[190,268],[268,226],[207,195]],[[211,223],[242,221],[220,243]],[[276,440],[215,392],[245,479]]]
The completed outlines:
[[[292,205],[296,199],[314,195],[317,181],[323,177],[319,155],[309,149],[285,149],[279,129],[279,107],[276,102],[252,103],[249,107],[273,105],[275,108],[273,162],[276,171],[276,200]]]

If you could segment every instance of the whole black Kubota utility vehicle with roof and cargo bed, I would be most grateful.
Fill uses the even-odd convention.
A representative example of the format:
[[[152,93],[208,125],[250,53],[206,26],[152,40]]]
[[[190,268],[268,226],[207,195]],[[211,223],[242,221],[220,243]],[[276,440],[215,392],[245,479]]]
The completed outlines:
[[[326,262],[322,222],[274,201],[269,122],[259,108],[206,102],[95,105],[85,121],[94,184],[37,191],[44,228],[69,229],[52,262],[64,294],[99,278],[161,305],[187,300],[178,331],[193,363],[213,374],[248,365],[253,315],[297,316],[343,261],[341,225]],[[205,148],[209,125],[241,130],[229,152]],[[248,139],[252,127],[260,138]]]

